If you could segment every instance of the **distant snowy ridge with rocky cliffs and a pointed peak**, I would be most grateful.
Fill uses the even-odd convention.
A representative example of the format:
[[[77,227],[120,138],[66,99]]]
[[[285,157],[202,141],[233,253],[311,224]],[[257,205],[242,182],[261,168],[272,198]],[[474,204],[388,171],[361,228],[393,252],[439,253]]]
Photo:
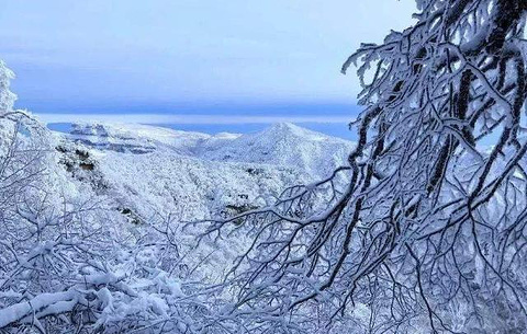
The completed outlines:
[[[289,123],[246,135],[214,136],[128,124],[77,124],[69,139],[100,150],[148,153],[172,150],[205,161],[246,162],[290,168],[319,178],[346,161],[352,142]]]

